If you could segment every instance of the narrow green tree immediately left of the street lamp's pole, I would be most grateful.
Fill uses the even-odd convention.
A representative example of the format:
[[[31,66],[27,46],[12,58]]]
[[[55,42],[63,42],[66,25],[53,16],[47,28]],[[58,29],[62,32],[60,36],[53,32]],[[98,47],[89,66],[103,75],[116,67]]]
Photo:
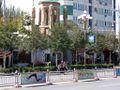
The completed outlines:
[[[70,49],[75,52],[75,58],[77,63],[77,53],[81,48],[84,48],[84,34],[79,29],[78,25],[73,22],[68,22],[68,35],[70,38]]]

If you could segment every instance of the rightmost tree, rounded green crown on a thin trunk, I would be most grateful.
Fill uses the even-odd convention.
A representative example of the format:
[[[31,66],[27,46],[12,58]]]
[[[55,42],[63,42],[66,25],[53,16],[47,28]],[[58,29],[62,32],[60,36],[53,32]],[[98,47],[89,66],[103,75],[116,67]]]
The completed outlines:
[[[106,32],[102,37],[99,38],[97,44],[99,45],[99,49],[109,50],[109,63],[111,63],[111,52],[115,52],[117,50],[117,39],[115,37],[115,32]]]

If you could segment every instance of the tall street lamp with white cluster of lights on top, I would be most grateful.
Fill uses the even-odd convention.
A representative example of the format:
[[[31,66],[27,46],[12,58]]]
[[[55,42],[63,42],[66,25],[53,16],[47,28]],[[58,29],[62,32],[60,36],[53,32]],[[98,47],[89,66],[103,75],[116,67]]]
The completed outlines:
[[[89,14],[87,14],[87,11],[84,10],[83,14],[78,16],[78,20],[83,20],[83,29],[84,29],[84,64],[86,64],[86,28],[88,21],[90,19],[93,19]]]

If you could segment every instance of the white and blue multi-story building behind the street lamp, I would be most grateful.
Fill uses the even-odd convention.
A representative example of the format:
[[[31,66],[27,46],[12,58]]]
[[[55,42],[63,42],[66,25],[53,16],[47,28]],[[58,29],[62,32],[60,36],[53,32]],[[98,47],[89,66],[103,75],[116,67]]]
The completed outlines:
[[[78,16],[86,10],[90,16],[88,27],[96,28],[99,31],[116,31],[116,0],[43,0],[51,2],[59,2],[60,20],[63,20],[63,8],[67,7],[68,20],[72,20],[79,24],[82,29],[82,22],[78,20]]]

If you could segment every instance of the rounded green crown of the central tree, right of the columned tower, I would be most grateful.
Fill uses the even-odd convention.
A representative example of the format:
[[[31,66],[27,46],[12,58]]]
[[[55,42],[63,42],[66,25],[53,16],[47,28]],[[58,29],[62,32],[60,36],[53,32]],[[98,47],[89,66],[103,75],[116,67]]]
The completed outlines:
[[[55,24],[50,31],[49,45],[53,51],[64,51],[69,48],[70,40],[63,24]]]

